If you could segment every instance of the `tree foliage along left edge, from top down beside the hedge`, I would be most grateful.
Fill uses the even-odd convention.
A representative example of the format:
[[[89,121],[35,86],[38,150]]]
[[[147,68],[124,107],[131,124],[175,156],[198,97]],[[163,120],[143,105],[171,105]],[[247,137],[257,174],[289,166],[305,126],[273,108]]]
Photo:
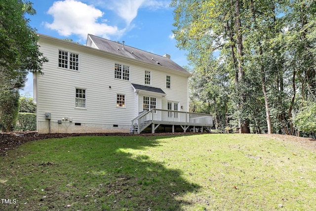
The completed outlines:
[[[5,130],[15,124],[18,89],[24,87],[28,72],[41,72],[47,61],[39,50],[36,30],[24,16],[26,13],[35,14],[31,2],[0,0],[0,119]]]

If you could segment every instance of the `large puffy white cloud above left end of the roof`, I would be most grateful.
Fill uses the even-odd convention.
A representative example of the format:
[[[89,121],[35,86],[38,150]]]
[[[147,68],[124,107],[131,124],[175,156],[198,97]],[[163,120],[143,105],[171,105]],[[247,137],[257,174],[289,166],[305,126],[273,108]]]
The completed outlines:
[[[87,34],[93,34],[109,39],[110,35],[122,35],[125,30],[109,26],[106,19],[101,19],[104,14],[101,10],[77,0],[55,1],[47,13],[54,20],[45,22],[45,26],[66,37],[76,34],[84,40]]]

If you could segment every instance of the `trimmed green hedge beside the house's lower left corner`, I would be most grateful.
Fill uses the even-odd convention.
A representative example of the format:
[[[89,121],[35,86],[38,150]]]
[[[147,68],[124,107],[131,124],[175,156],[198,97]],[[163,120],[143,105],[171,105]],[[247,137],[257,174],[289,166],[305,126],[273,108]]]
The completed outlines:
[[[36,130],[36,114],[19,113],[15,130],[35,131]]]

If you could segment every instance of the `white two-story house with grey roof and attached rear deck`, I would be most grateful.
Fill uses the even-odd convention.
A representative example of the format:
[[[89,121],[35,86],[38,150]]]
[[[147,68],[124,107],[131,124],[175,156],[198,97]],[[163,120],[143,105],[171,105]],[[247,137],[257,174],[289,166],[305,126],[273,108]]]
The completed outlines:
[[[212,126],[211,116],[188,112],[190,73],[168,54],[93,35],[86,45],[39,36],[49,60],[34,74],[39,133]]]

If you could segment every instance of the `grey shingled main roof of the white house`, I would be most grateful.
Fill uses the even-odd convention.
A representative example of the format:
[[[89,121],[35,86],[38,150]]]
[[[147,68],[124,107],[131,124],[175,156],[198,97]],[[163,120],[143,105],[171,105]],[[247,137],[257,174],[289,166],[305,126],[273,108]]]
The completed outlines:
[[[90,40],[89,40],[90,39]],[[91,46],[90,44],[93,43]],[[159,65],[176,71],[190,74],[180,65],[172,61],[170,58],[159,56],[154,53],[150,53],[138,48],[134,48],[122,43],[113,42],[104,38],[100,38],[94,35],[88,34],[87,46],[95,47],[100,50],[104,50],[110,53],[118,54],[124,57],[136,59],[142,62],[150,63],[153,65]]]

